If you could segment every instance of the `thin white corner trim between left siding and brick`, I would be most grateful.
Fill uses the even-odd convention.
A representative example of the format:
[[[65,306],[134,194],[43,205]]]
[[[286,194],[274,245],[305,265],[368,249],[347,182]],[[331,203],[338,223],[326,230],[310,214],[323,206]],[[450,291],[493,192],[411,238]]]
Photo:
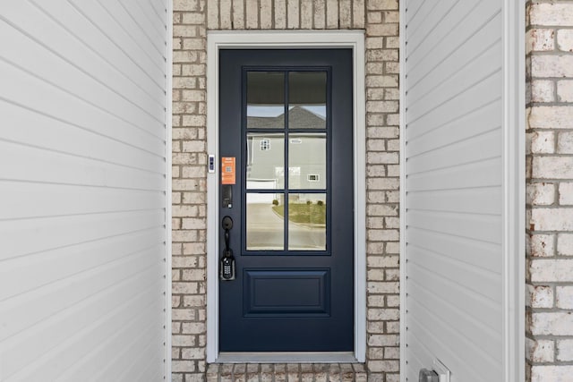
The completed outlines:
[[[172,226],[171,226],[171,215],[172,215],[172,156],[171,151],[173,149],[173,110],[172,110],[172,101],[173,101],[173,0],[166,1],[166,25],[167,25],[167,74],[166,74],[166,106],[165,106],[165,125],[166,125],[166,134],[165,134],[165,149],[166,149],[166,208],[165,208],[165,227],[166,227],[166,253],[165,253],[165,283],[166,283],[166,293],[165,293],[165,378],[167,381],[171,380],[171,365],[172,365],[172,354],[171,351],[171,319],[173,317],[172,314],[172,302],[171,302],[171,267],[172,267],[172,259],[173,250],[172,250]]]

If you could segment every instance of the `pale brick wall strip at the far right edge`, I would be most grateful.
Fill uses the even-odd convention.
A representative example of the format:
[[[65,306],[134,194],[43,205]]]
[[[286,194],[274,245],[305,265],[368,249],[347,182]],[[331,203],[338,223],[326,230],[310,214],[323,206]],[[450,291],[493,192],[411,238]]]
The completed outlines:
[[[527,380],[573,376],[573,3],[527,4]]]

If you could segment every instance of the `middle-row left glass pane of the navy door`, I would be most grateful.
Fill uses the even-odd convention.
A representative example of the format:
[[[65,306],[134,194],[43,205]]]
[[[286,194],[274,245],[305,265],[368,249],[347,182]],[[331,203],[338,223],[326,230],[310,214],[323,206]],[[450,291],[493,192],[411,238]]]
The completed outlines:
[[[285,187],[285,134],[247,133],[247,189]]]

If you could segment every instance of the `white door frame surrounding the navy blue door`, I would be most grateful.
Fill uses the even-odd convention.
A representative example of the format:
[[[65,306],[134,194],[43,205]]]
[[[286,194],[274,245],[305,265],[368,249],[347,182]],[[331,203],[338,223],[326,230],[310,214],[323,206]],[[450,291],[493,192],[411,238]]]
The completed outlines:
[[[363,30],[209,31],[207,33],[207,149],[218,161],[218,51],[222,48],[346,47],[354,56],[355,361],[366,360],[366,162]],[[207,361],[218,353],[218,163],[207,178]],[[253,354],[256,358],[256,354]],[[255,358],[250,358],[256,361]],[[261,357],[264,361],[264,357]],[[341,361],[346,361],[341,360]]]

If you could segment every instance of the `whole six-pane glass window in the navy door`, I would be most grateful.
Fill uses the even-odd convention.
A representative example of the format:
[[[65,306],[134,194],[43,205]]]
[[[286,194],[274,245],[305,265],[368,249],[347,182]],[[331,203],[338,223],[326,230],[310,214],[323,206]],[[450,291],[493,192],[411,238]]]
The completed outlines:
[[[305,132],[286,131],[285,76],[288,128]],[[327,73],[252,71],[246,80],[246,250],[326,250]]]

